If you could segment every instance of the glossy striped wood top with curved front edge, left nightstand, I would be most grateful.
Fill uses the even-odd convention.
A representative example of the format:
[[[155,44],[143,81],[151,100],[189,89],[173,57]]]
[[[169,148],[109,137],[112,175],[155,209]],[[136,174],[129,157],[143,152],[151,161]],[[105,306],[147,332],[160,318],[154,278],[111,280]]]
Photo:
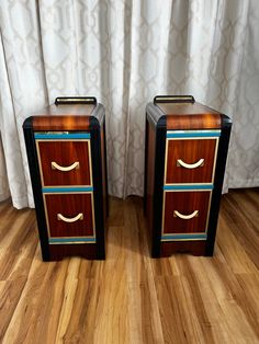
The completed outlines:
[[[33,117],[35,131],[88,130],[94,105],[50,105]]]

